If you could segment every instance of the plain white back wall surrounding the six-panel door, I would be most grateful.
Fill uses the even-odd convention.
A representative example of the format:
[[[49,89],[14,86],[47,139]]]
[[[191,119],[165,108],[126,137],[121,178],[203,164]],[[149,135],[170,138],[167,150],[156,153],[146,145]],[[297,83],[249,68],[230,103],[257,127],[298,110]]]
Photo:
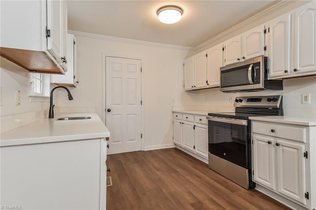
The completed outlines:
[[[173,146],[172,100],[191,103],[194,94],[183,90],[183,60],[188,49],[123,43],[76,35],[79,50],[79,86],[72,88],[73,101],[58,91],[56,106],[95,106],[102,117],[102,56],[142,60],[145,149]]]

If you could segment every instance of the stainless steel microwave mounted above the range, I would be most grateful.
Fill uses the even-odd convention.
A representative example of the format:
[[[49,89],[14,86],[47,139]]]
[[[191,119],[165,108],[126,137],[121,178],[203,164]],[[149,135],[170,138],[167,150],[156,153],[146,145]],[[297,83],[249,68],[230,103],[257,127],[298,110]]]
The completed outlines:
[[[268,80],[268,68],[268,57],[265,56],[221,67],[220,91],[283,90],[282,80]]]

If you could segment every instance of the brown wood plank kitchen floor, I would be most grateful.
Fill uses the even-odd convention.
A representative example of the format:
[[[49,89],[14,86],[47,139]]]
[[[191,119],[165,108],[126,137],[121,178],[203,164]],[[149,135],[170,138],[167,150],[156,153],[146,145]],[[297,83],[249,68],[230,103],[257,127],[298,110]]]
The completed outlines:
[[[176,149],[108,155],[107,210],[285,210]]]

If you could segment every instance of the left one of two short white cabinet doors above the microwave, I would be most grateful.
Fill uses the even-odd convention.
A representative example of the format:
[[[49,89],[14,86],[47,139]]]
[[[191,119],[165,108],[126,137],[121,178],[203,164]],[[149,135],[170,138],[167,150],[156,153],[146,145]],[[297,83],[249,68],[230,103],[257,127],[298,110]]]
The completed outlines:
[[[225,42],[225,65],[234,64],[241,60],[241,35],[237,35]]]

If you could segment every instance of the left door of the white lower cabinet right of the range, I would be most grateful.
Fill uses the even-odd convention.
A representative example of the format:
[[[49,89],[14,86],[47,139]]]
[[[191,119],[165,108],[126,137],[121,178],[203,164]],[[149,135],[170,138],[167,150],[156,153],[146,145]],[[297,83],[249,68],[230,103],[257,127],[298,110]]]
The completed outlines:
[[[274,140],[270,137],[253,135],[253,180],[276,190]]]

